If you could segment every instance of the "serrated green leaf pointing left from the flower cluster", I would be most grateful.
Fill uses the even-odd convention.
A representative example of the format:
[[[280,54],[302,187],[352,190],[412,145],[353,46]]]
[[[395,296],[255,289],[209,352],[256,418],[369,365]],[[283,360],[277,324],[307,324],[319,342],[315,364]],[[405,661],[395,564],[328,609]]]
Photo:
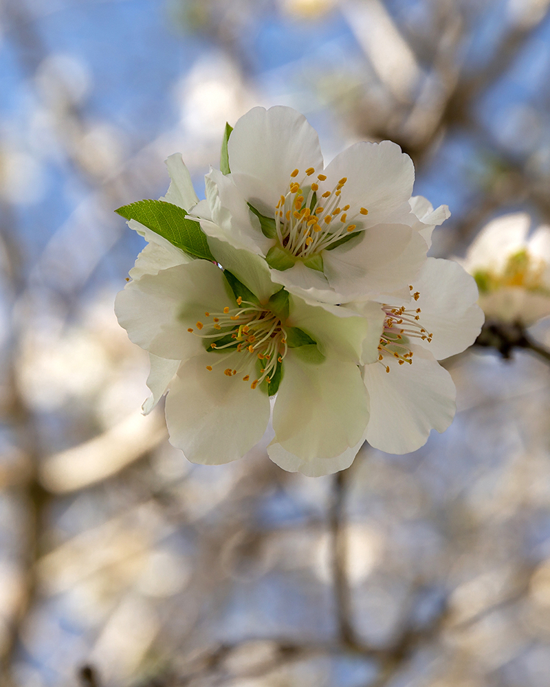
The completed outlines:
[[[187,213],[182,207],[164,201],[145,200],[122,205],[115,212],[148,227],[195,258],[214,262],[201,225],[197,221],[187,219]]]

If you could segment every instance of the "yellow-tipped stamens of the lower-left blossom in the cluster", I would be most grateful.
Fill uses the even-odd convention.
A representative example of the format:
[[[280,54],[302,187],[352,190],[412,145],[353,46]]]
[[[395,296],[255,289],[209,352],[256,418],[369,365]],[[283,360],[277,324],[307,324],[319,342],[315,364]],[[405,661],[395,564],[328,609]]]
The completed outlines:
[[[188,332],[211,341],[210,349],[227,350],[227,354],[220,356],[217,362],[206,365],[210,372],[216,365],[227,365],[231,361],[234,365],[223,370],[223,374],[230,377],[250,369],[252,361],[260,360],[259,379],[250,384],[250,388],[255,389],[264,379],[270,383],[277,363],[283,362],[287,354],[286,333],[281,319],[272,311],[243,301],[240,296],[237,304],[238,308],[226,306],[222,313],[204,313],[206,321],[196,324],[199,331],[190,327]],[[250,374],[245,374],[243,381],[250,381]]]

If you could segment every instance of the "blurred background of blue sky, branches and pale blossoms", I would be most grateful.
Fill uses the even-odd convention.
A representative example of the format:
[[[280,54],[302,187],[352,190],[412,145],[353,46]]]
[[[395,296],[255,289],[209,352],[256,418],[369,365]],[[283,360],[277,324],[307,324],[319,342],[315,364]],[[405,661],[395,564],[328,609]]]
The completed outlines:
[[[548,687],[550,370],[472,348],[450,429],[339,477],[195,466],[113,315],[115,207],[226,121],[393,139],[452,218],[550,223],[549,0],[0,3],[0,684]],[[532,332],[550,343],[544,322]]]

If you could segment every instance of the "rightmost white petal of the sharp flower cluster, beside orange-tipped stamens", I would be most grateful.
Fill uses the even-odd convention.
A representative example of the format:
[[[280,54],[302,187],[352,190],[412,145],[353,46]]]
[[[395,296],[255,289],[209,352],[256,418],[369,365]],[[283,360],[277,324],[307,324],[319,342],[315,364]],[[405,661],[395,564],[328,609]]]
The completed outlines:
[[[471,346],[485,319],[474,278],[453,260],[428,258],[412,284],[420,293],[412,301],[421,309],[418,324],[433,334],[431,342],[418,340],[419,346],[437,360]]]

